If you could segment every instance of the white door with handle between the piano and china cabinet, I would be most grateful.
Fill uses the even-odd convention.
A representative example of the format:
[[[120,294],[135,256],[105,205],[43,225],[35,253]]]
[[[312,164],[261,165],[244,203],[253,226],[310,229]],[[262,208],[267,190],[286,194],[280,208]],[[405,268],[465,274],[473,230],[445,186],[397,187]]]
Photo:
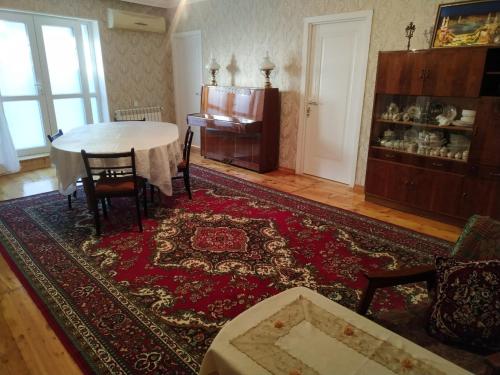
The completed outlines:
[[[370,28],[371,12],[308,28],[304,173],[354,184]]]

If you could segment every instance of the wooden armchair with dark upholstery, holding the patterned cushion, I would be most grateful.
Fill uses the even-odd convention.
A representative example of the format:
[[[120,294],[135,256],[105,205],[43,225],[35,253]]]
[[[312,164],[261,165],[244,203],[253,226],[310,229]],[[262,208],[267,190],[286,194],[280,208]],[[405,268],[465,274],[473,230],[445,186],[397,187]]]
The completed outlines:
[[[474,229],[473,225],[477,224],[478,221],[480,226]],[[493,231],[489,231],[488,228],[488,226],[496,226],[496,228],[498,228],[498,225],[500,225],[500,223],[490,218],[473,216],[469,219],[462,235],[458,239],[452,256],[456,256],[462,260],[500,258],[498,231],[497,234],[495,234],[495,238],[493,238],[493,235],[491,235]],[[463,250],[465,242],[468,242],[468,245],[474,247],[473,251]],[[459,253],[457,253],[457,249]],[[483,249],[483,253],[481,254],[480,251],[477,251],[478,249]],[[471,259],[471,254],[475,254],[474,259]],[[365,274],[365,277],[368,284],[362,292],[361,300],[357,308],[357,312],[361,315],[367,313],[374,294],[379,288],[425,282],[429,294],[431,296],[435,295],[437,273],[434,265],[421,265],[391,271],[368,272]],[[500,375],[500,352],[490,355],[481,355],[466,348],[447,345],[431,337],[426,330],[429,308],[430,306],[428,303],[419,303],[410,306],[410,308],[405,311],[381,312],[374,315],[373,318],[382,326],[457,363],[459,366],[467,368],[469,371],[478,374]]]

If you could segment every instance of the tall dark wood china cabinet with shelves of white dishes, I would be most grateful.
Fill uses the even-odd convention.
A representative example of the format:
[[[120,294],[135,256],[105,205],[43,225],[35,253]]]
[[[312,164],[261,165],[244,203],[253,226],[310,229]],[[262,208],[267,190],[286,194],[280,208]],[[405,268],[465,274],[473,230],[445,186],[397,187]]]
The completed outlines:
[[[387,116],[390,103],[397,104],[400,114],[411,106],[420,113],[413,119],[394,119]],[[455,120],[463,110],[476,111],[473,126],[439,126],[439,106],[448,115],[456,111]],[[441,134],[445,143],[425,152],[410,150],[406,141],[404,146],[384,144],[386,131],[394,132],[396,140],[405,140],[411,129],[419,136]],[[466,140],[470,146],[457,149],[452,138]],[[379,53],[367,200],[453,223],[463,223],[473,214],[500,218],[499,145],[500,48]],[[454,150],[451,157],[432,154],[442,147]],[[465,149],[466,160],[455,158],[457,151],[463,156]]]

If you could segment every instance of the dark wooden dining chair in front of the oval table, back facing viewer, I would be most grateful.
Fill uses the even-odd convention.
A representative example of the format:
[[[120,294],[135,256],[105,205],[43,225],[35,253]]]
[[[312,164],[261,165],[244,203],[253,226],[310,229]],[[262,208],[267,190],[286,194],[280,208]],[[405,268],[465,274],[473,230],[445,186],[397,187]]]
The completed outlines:
[[[89,181],[89,202],[94,211],[96,234],[101,235],[98,202],[101,201],[104,217],[107,217],[105,199],[112,197],[135,198],[139,231],[142,232],[139,192],[140,190],[143,192],[144,215],[147,217],[145,179],[136,174],[134,149],[132,148],[130,152],[113,154],[91,154],[82,150],[82,157]],[[129,164],[119,165],[118,159],[120,158],[129,158]],[[102,165],[103,159],[105,159],[104,166]],[[99,161],[96,162],[96,160]],[[103,170],[106,174],[102,173]]]

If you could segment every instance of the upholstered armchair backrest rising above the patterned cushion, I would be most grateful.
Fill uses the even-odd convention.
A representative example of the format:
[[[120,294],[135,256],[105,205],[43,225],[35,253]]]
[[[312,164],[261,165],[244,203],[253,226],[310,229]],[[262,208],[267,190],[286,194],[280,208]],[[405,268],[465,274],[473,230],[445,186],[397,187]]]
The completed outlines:
[[[461,259],[500,259],[500,222],[487,216],[472,216],[451,255]]]

